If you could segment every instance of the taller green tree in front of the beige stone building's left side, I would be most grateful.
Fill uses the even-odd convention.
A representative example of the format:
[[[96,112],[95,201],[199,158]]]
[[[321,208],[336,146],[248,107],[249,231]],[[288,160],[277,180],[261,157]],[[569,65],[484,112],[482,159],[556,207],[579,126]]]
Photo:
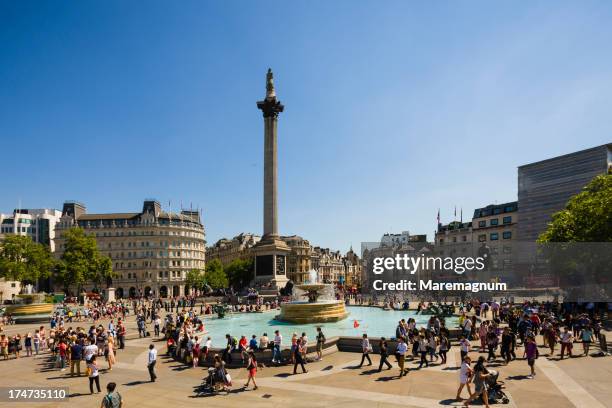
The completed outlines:
[[[83,283],[93,281],[95,286],[108,282],[115,276],[109,257],[103,256],[93,236],[75,227],[64,233],[64,253],[56,268],[56,279],[64,290],[76,285],[80,291]]]

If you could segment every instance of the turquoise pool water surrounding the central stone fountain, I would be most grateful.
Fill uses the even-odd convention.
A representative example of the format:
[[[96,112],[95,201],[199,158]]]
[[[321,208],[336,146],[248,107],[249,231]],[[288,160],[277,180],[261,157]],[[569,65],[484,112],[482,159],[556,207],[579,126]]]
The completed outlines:
[[[259,337],[265,332],[268,337],[274,336],[274,330],[280,330],[283,336],[283,345],[289,345],[293,333],[301,335],[306,332],[309,342],[313,341],[316,335],[317,326],[323,328],[325,337],[331,338],[335,336],[361,336],[367,333],[370,337],[387,338],[395,337],[395,327],[401,319],[414,318],[417,325],[425,326],[429,320],[428,315],[417,315],[414,311],[394,311],[382,310],[378,307],[347,307],[349,317],[345,320],[335,323],[321,324],[291,324],[274,320],[279,311],[265,313],[238,313],[227,314],[223,319],[213,317],[204,321],[206,331],[204,335],[210,336],[213,341],[213,347],[225,346],[225,334],[229,333],[232,336],[240,338],[245,335],[250,339],[253,334]],[[357,320],[359,327],[354,327],[354,322]],[[446,318],[446,326],[449,329],[457,327],[457,317]]]

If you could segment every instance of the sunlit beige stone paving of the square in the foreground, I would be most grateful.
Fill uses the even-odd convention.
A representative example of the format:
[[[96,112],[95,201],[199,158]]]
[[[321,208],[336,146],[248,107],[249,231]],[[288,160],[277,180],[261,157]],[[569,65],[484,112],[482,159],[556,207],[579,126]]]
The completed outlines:
[[[88,326],[89,324],[87,324]],[[23,326],[12,326],[23,333]],[[153,339],[159,350],[156,383],[148,382],[146,369],[147,347],[152,339],[133,339],[125,350],[117,353],[118,363],[112,371],[105,371],[106,362],[99,359],[101,386],[114,381],[125,399],[125,407],[212,406],[212,407],[438,407],[461,406],[453,398],[458,386],[459,350],[453,346],[447,367],[433,365],[416,370],[410,362],[411,372],[397,377],[397,369],[378,373],[373,367],[356,368],[360,354],[334,353],[323,361],[307,365],[307,374],[290,375],[292,367],[266,367],[260,369],[256,391],[242,390],[246,370],[230,370],[233,389],[229,394],[210,396],[199,393],[199,385],[207,375],[205,368],[188,368],[164,356],[165,344]],[[539,340],[541,343],[541,340]],[[475,347],[477,350],[477,347]],[[580,345],[574,348],[581,350]],[[521,357],[523,349],[517,350]],[[535,379],[526,379],[529,369],[525,360],[516,360],[508,366],[493,364],[506,382],[506,391],[513,407],[612,407],[612,359],[610,357],[577,357],[558,361],[549,359],[547,350],[541,349],[537,360]],[[476,358],[478,351],[471,355]],[[378,356],[373,356],[374,364]],[[391,362],[394,363],[393,357]],[[50,367],[48,357],[22,357],[0,361],[2,386],[66,386],[69,402],[62,403],[3,403],[3,407],[98,407],[102,394],[89,394],[85,377],[70,377],[69,370]],[[464,396],[467,396],[464,390]]]

